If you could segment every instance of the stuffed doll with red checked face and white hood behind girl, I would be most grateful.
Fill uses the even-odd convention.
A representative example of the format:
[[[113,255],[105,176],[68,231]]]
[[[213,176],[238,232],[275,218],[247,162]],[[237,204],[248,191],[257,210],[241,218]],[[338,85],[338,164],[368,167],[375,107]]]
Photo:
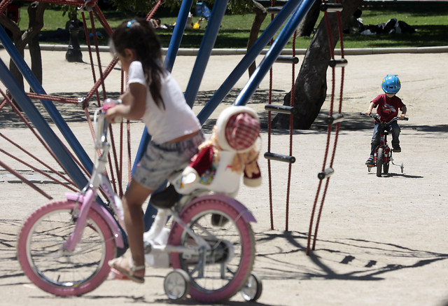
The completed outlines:
[[[187,194],[193,190],[211,190],[235,197],[243,176],[246,186],[261,184],[258,167],[260,120],[247,106],[224,109],[208,141],[200,145],[200,152],[190,165],[172,181],[176,191]]]

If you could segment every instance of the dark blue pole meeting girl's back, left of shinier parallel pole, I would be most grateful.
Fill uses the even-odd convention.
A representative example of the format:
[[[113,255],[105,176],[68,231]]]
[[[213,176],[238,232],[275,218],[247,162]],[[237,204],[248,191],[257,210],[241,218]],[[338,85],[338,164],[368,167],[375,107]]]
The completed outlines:
[[[274,20],[269,23],[265,31],[262,32],[257,41],[255,41],[253,46],[248,50],[246,55],[244,55],[239,64],[237,64],[237,67],[233,69],[228,78],[224,81],[223,85],[221,85],[221,87],[216,90],[213,97],[211,97],[209,102],[207,102],[204,108],[202,108],[202,111],[200,111],[200,113],[197,115],[197,118],[199,118],[202,124],[204,124],[211,113],[214,112],[216,106],[218,106],[218,104],[223,101],[224,97],[228,95],[232,87],[237,83],[239,78],[241,78],[248,67],[251,66],[255,58],[260,55],[263,48],[265,48],[267,43],[269,43],[269,40],[275,35],[277,30],[288,19],[288,17],[295,10],[300,1],[301,0],[288,1],[285,6],[283,6],[281,11],[276,15]]]

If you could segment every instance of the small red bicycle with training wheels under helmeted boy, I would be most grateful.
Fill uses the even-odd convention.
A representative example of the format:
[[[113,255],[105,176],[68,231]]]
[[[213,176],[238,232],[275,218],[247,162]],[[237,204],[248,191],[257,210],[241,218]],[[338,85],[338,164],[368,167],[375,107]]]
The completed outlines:
[[[375,113],[374,115],[367,113],[360,113],[362,116],[369,116],[375,120],[376,123],[379,124],[379,145],[375,148],[374,156],[373,156],[373,165],[367,165],[367,170],[372,171],[373,167],[377,167],[377,176],[381,177],[381,174],[388,174],[389,172],[389,164],[398,166],[401,169],[401,173],[403,173],[403,163],[400,165],[396,165],[393,162],[392,158],[392,150],[387,144],[387,135],[388,135],[388,127],[391,126],[393,122],[396,120],[409,120],[409,118],[394,117],[389,122],[383,123],[379,119],[379,115]]]

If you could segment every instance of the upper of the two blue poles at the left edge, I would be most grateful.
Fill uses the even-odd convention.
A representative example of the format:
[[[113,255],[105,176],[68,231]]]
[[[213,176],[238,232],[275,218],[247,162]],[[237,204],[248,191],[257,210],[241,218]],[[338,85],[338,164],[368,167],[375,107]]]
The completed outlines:
[[[20,55],[19,51],[15,48],[13,42],[9,39],[8,34],[6,34],[6,31],[3,29],[3,27],[0,27],[0,41],[8,51],[11,59],[15,63],[15,66],[18,67],[22,75],[27,79],[33,91],[40,95],[46,95],[46,92],[45,90],[43,90],[42,85],[38,82],[31,69],[29,69],[27,63],[23,59],[22,55]],[[73,149],[73,152],[76,154],[76,156],[78,156],[80,162],[84,165],[87,171],[92,172],[92,160],[90,160],[87,153],[85,153],[83,147],[80,145],[73,132],[71,132],[70,127],[66,124],[59,111],[57,111],[55,105],[48,100],[42,99],[41,102],[45,109],[48,111],[48,114],[52,118],[53,122],[57,125],[59,130],[64,135],[66,141]]]

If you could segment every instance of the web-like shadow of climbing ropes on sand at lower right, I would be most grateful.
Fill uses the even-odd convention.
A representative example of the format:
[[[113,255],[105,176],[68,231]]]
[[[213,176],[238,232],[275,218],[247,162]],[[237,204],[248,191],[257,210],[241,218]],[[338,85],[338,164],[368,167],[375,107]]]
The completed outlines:
[[[448,253],[437,253],[418,249],[410,249],[406,246],[391,244],[388,242],[375,242],[363,239],[342,238],[332,241],[318,239],[318,245],[324,244],[326,249],[317,249],[310,252],[312,265],[301,264],[303,260],[283,260],[281,256],[286,253],[305,253],[307,248],[307,233],[283,232],[283,233],[258,233],[255,235],[258,245],[258,271],[263,279],[344,279],[358,281],[377,281],[384,279],[386,273],[398,270],[423,267],[440,260],[448,259]],[[269,244],[269,250],[264,251],[264,244]],[[328,249],[328,246],[335,246]],[[350,251],[336,251],[342,249]],[[364,260],[364,266],[359,263],[350,265],[356,260],[356,254],[370,254],[369,260]],[[342,258],[335,263],[336,258]],[[331,256],[330,256],[331,255]],[[403,258],[403,263],[400,262]],[[404,260],[404,258],[406,260]],[[406,261],[406,263],[404,263]],[[412,263],[409,263],[411,261]],[[330,262],[330,265],[325,262]],[[395,263],[393,263],[395,262]],[[344,269],[340,265],[344,265]],[[337,267],[335,269],[334,267]],[[336,270],[349,270],[337,272]]]

